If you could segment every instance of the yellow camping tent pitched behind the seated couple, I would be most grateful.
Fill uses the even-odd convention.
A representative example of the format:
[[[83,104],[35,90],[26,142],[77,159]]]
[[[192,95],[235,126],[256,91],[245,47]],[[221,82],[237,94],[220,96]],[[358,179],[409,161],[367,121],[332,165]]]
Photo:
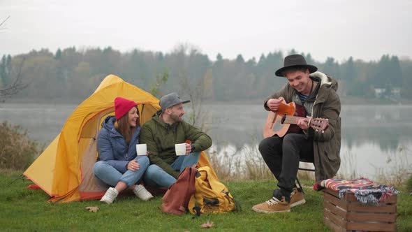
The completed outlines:
[[[96,136],[102,120],[115,111],[115,98],[138,103],[140,124],[145,124],[159,107],[159,100],[115,75],[108,75],[94,94],[68,117],[59,135],[34,161],[24,175],[52,196],[50,201],[70,202],[101,198],[107,187],[96,182]],[[202,152],[198,166],[210,166]]]

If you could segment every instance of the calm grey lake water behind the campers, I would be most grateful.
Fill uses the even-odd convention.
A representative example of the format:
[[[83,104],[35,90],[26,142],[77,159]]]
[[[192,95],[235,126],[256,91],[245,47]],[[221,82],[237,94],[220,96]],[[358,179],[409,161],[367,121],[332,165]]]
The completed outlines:
[[[67,117],[77,107],[73,104],[3,103],[0,121],[7,120],[27,129],[40,143],[50,143]],[[263,138],[267,113],[259,104],[207,104],[203,106],[212,149],[222,147],[233,153],[256,148]],[[344,105],[342,117],[341,172],[372,178],[395,167],[411,168],[412,106]]]

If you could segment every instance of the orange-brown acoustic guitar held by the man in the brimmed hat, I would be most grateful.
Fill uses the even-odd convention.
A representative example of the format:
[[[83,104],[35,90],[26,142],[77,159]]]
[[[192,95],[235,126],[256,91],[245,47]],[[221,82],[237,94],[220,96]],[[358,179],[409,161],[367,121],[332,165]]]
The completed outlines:
[[[328,128],[328,119],[320,117],[311,118],[293,116],[295,114],[295,109],[296,106],[294,102],[286,103],[285,100],[282,100],[277,112],[270,111],[269,115],[267,115],[265,126],[263,127],[263,137],[267,138],[274,135],[283,137],[288,133],[290,124],[297,124],[297,120],[302,118],[307,119],[309,126],[316,131],[321,131],[323,133],[325,129]],[[281,124],[280,129],[274,127],[277,124]]]

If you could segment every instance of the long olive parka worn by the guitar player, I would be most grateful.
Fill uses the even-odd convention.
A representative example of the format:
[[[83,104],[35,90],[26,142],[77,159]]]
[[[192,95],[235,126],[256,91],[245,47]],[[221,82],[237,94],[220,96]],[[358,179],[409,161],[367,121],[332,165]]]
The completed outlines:
[[[308,138],[314,140],[314,166],[316,181],[332,178],[336,175],[341,164],[341,102],[337,95],[337,81],[321,72],[311,73],[311,78],[321,81],[316,100],[313,104],[312,117],[321,117],[329,120],[329,126],[324,133],[309,128]],[[283,96],[287,103],[293,101],[297,91],[286,85],[281,91],[268,96],[264,106],[266,110],[269,99]]]

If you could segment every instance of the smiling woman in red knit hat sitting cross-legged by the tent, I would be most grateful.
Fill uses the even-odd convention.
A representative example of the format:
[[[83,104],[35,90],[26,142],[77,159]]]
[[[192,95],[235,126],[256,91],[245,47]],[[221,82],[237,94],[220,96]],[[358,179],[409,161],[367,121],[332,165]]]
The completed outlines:
[[[145,187],[137,184],[149,166],[147,156],[136,154],[140,134],[137,105],[134,101],[117,97],[115,116],[106,117],[98,133],[98,161],[93,172],[98,180],[111,186],[100,200],[108,204],[127,188],[143,201],[153,198]]]

